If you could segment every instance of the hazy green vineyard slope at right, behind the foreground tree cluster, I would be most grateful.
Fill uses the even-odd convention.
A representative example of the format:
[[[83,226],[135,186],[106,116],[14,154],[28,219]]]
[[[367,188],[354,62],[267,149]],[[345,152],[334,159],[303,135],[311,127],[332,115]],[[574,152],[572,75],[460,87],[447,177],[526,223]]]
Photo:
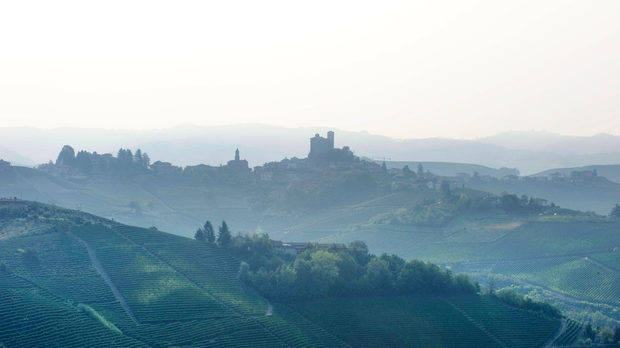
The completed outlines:
[[[571,214],[490,211],[440,226],[370,219],[323,240],[363,239],[374,252],[443,264],[485,285],[515,286],[574,319],[617,326],[620,221]]]

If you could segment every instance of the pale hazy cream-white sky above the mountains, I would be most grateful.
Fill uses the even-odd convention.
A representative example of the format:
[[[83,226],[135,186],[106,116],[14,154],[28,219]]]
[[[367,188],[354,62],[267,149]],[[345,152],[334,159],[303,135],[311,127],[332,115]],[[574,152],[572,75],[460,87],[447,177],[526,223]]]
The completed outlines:
[[[620,134],[620,1],[3,1],[0,126]]]

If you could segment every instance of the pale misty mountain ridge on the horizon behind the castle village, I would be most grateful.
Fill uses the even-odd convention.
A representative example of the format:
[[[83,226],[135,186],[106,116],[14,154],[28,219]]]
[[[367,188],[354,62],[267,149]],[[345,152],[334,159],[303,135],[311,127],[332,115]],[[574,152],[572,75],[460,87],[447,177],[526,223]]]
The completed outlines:
[[[147,151],[153,158],[180,165],[226,163],[236,148],[251,166],[307,156],[315,133],[336,133],[337,147],[358,156],[392,161],[456,162],[491,168],[517,168],[529,175],[550,168],[620,163],[620,137],[570,137],[512,132],[476,140],[393,139],[368,132],[325,127],[285,128],[261,124],[217,127],[183,125],[156,130],[0,128],[0,156],[20,164],[54,160],[65,144],[88,151],[116,153],[120,147]],[[23,163],[15,154],[29,158]]]

